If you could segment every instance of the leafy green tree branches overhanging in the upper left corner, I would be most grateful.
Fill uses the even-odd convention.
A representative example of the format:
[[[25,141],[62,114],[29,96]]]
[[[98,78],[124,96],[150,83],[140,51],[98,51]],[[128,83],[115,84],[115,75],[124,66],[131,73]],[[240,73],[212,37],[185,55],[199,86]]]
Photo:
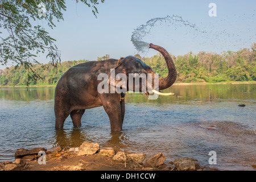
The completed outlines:
[[[96,16],[99,0],[76,0],[92,9]],[[104,0],[100,0],[104,2]],[[44,11],[42,11],[42,7]],[[66,10],[65,0],[1,0],[0,1],[0,63],[11,63],[36,75],[33,64],[40,64],[36,60],[39,53],[47,53],[47,58],[53,65],[60,62],[60,51],[45,28],[39,25],[41,20],[47,22],[48,27],[55,27],[54,22],[63,20]],[[16,68],[15,67],[15,68]]]

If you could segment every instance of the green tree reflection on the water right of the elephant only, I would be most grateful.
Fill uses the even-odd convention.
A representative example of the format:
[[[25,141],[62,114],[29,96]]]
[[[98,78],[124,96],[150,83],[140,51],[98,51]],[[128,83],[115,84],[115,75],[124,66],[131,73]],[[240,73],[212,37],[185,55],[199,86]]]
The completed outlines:
[[[216,102],[218,100],[245,100],[256,97],[255,84],[244,85],[174,85],[164,92],[175,93],[175,96],[159,96],[157,100],[148,100],[145,94],[129,94],[128,102],[170,103],[187,102],[188,100]]]

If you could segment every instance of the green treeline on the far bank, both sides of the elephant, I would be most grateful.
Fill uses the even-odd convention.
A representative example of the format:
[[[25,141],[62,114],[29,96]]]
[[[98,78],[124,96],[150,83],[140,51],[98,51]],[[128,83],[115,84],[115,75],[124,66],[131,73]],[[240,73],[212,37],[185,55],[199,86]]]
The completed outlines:
[[[256,43],[251,48],[237,52],[224,51],[218,54],[201,51],[171,56],[177,69],[176,82],[256,81]],[[167,76],[168,69],[160,53],[152,57],[141,57],[139,54],[135,57],[144,61],[159,76]],[[26,70],[23,66],[10,67],[0,70],[0,85],[55,85],[69,68],[86,61],[64,61],[56,67],[52,64],[34,65],[32,70]]]

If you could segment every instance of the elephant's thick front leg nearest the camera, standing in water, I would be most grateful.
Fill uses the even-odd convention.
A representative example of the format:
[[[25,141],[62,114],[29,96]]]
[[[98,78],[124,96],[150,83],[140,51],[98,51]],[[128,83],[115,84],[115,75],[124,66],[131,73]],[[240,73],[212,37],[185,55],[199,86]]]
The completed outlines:
[[[112,131],[121,131],[122,130],[122,116],[121,116],[121,105],[119,101],[119,97],[114,96],[112,94],[111,97],[106,96],[102,98],[102,106],[104,107],[106,113],[109,116],[110,127]]]

